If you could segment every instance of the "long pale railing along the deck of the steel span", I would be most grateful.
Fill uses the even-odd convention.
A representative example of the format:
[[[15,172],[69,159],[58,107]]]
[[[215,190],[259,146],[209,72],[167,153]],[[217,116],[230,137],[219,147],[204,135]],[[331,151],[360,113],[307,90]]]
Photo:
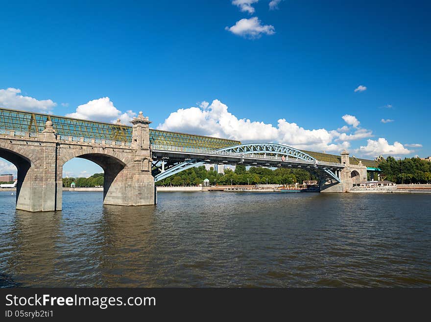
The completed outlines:
[[[311,160],[303,160],[299,158],[285,157],[284,161],[281,157],[277,157],[275,155],[267,155],[267,154],[256,154],[256,153],[235,153],[228,151],[216,151],[211,149],[200,149],[200,148],[190,148],[190,147],[175,147],[168,145],[151,145],[152,150],[159,151],[167,151],[167,152],[185,152],[185,153],[196,153],[196,154],[204,154],[204,155],[226,155],[226,156],[235,156],[235,157],[244,157],[251,159],[266,159],[266,160],[274,160],[279,162],[294,162],[294,163],[302,163],[306,165],[314,165],[315,162]],[[324,162],[317,161],[317,165],[328,165],[328,166],[338,166],[342,167],[340,163],[334,162]]]

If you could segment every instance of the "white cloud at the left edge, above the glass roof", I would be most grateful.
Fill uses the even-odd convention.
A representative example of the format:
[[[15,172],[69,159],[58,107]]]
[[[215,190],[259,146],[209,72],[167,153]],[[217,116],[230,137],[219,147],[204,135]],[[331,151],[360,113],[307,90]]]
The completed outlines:
[[[0,89],[0,106],[26,111],[48,112],[57,105],[57,103],[50,99],[38,100],[20,95],[20,93],[21,90],[19,88],[9,87],[8,89]]]

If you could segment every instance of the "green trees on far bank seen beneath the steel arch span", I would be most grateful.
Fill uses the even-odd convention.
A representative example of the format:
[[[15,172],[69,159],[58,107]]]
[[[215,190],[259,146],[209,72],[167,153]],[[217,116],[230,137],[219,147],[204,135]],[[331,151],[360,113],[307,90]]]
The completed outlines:
[[[158,186],[197,186],[205,179],[210,180],[211,185],[245,185],[245,184],[291,184],[302,183],[312,179],[311,174],[303,169],[276,169],[263,167],[250,167],[237,165],[235,171],[226,168],[224,174],[217,173],[213,167],[206,170],[204,166],[187,169],[181,173],[169,176],[156,183]],[[314,178],[313,178],[314,179]]]

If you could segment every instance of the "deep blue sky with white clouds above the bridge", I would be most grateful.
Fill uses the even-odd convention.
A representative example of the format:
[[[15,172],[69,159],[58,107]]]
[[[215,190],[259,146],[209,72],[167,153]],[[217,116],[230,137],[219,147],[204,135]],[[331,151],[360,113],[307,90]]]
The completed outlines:
[[[142,110],[153,127],[243,142],[431,155],[429,1],[88,2],[2,4],[0,105],[106,122]]]

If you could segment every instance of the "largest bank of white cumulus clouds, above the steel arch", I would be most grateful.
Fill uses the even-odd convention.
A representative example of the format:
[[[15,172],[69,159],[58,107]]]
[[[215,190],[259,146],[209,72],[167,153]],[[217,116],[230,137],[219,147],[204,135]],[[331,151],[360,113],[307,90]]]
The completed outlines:
[[[277,125],[265,124],[249,119],[239,119],[228,111],[228,106],[218,99],[211,104],[202,102],[199,107],[180,108],[171,113],[161,130],[195,133],[215,137],[229,138],[247,142],[274,142],[299,149],[318,151],[339,151],[350,147],[348,141],[363,137],[362,130],[339,140],[341,133],[335,130],[305,129],[286,119],[279,119]],[[367,133],[369,135],[369,133]]]

